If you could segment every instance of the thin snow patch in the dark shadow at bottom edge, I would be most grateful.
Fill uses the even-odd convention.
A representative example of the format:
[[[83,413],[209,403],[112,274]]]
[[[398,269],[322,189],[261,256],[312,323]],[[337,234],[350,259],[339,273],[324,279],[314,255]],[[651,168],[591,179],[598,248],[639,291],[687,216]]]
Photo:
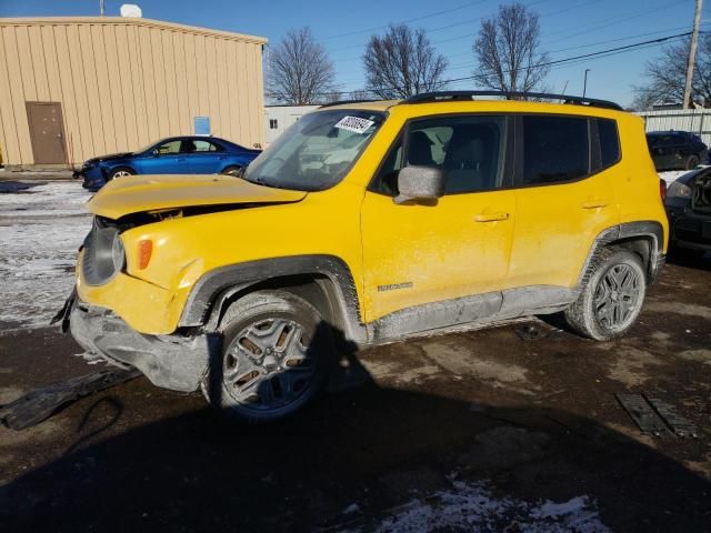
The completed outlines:
[[[454,481],[453,489],[392,510],[379,523],[344,530],[350,533],[498,532],[607,533],[597,505],[588,496],[568,502],[530,503],[497,497],[484,482]]]

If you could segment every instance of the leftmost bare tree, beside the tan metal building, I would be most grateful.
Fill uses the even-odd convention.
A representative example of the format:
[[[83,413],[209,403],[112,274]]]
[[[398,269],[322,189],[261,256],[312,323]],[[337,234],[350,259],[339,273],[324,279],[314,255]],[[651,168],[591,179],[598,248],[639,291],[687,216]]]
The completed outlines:
[[[269,95],[291,105],[323,101],[333,91],[333,63],[309,28],[287,33],[271,50],[268,71]]]

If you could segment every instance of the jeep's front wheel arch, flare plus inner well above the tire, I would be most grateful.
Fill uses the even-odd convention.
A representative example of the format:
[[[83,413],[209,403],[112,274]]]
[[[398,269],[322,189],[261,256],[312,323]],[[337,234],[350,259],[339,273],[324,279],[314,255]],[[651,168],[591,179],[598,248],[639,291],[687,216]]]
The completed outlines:
[[[343,336],[367,340],[350,269],[333,255],[249,261],[212,270],[196,283],[180,326],[216,330],[229,305],[259,290],[287,290],[309,301]]]

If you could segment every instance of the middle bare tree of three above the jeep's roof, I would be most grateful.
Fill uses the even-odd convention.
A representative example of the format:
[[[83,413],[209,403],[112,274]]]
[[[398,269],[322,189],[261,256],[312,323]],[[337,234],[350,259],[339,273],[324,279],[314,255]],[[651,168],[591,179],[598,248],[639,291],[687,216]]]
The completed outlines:
[[[383,37],[370,38],[363,68],[369,91],[380,98],[408,98],[441,89],[447,59],[435,53],[424,30],[390,24]]]

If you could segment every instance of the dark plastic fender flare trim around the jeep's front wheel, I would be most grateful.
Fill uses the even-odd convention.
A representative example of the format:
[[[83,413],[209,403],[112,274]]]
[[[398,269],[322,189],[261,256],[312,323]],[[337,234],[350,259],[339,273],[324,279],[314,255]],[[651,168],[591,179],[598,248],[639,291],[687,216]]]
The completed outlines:
[[[261,259],[220,266],[204,273],[193,285],[179,326],[203,326],[210,320],[210,311],[221,305],[230,295],[257,283],[290,275],[328,278],[336,289],[330,303],[340,312],[343,333],[356,342],[367,340],[367,331],[360,314],[358,293],[350,268],[334,255],[309,254]]]

